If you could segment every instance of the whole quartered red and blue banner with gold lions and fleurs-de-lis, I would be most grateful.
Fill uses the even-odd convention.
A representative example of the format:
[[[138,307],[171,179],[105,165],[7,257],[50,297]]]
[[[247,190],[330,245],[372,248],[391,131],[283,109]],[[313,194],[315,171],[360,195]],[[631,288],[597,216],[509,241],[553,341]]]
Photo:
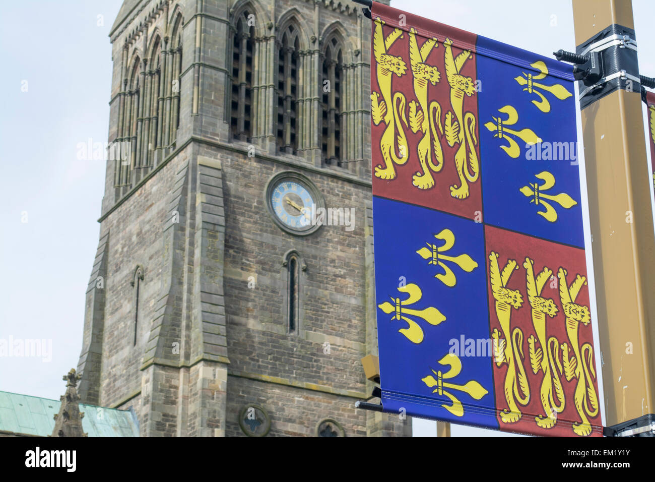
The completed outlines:
[[[572,67],[373,3],[386,412],[601,435]]]

